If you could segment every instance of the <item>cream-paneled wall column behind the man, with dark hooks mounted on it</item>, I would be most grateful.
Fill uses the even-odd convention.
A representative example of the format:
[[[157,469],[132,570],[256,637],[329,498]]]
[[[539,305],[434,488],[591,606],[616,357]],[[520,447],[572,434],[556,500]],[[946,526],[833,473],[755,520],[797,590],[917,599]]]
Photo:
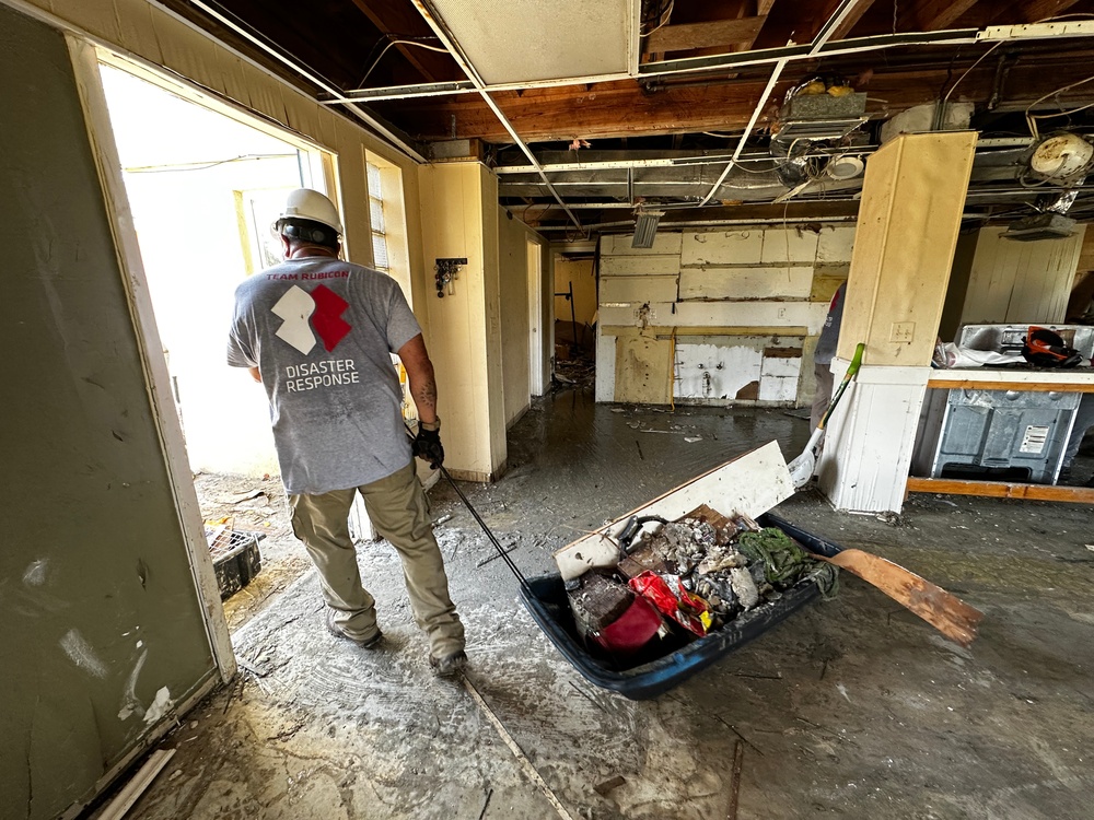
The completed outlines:
[[[453,293],[427,301],[445,462],[489,480],[505,462],[497,177],[477,162],[422,165],[422,245],[430,261],[465,257]]]

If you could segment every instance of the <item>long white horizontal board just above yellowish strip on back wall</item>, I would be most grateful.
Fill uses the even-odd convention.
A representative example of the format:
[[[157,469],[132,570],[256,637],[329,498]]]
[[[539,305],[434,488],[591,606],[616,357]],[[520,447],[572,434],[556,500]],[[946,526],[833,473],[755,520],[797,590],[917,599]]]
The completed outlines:
[[[675,309],[674,309],[675,308]],[[651,302],[648,308],[602,305],[605,325],[676,327],[805,327],[819,333],[828,305],[817,302]]]

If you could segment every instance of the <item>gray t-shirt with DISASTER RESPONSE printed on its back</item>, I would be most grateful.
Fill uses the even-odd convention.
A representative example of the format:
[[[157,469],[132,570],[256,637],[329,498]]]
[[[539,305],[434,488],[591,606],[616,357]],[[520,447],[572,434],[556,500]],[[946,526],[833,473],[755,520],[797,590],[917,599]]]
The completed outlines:
[[[228,363],[258,367],[290,494],[379,481],[411,459],[391,353],[421,332],[391,277],[291,259],[235,291]]]

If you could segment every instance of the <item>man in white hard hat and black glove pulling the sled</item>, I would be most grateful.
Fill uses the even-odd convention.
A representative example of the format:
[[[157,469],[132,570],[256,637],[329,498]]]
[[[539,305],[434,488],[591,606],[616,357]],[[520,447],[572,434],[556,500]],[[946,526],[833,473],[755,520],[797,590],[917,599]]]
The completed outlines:
[[[341,224],[318,191],[289,195],[275,224],[284,261],[235,292],[228,363],[266,388],[292,528],[319,572],[327,629],[359,646],[382,632],[349,535],[357,493],[376,531],[398,551],[415,620],[440,675],[466,663],[464,628],[414,467],[444,460],[437,382],[421,328],[398,284],[339,259]],[[418,408],[411,443],[392,362],[398,353]]]

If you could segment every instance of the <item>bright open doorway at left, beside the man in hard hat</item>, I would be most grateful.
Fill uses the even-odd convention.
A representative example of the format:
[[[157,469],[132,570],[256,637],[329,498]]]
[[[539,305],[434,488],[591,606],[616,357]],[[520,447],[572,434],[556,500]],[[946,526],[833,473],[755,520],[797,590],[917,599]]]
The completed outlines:
[[[132,66],[100,63],[172,397],[230,628],[302,573],[269,406],[225,362],[236,285],[281,261],[288,191],[326,190],[331,157]],[[240,593],[240,594],[236,594]]]

